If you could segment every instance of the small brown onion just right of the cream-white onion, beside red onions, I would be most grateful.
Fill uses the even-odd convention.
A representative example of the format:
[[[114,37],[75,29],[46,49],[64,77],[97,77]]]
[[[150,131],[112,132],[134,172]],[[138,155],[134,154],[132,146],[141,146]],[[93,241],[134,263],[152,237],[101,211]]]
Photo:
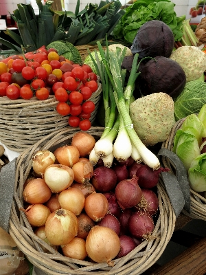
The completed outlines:
[[[85,184],[93,176],[93,165],[91,162],[77,162],[72,166],[73,179],[79,184]]]

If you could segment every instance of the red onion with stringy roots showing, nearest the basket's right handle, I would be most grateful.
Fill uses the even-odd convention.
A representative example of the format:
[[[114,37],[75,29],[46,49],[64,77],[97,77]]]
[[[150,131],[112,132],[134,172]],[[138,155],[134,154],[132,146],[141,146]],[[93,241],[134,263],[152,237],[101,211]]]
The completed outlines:
[[[158,197],[154,191],[150,189],[141,189],[142,197],[141,201],[137,204],[137,208],[141,208],[142,210],[146,210],[153,215],[157,212],[159,207]]]

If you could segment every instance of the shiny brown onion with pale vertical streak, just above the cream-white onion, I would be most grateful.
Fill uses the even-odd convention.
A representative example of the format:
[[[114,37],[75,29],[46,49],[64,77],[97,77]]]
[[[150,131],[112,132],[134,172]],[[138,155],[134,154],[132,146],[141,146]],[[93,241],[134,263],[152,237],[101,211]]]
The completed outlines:
[[[65,145],[57,148],[54,151],[54,155],[58,160],[59,164],[72,167],[73,164],[79,161],[80,153],[76,146]]]

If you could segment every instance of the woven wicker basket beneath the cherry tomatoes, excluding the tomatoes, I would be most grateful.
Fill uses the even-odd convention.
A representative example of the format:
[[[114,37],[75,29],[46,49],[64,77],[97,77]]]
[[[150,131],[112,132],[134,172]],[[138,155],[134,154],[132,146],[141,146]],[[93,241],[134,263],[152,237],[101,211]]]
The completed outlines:
[[[102,85],[98,78],[98,90],[89,100],[95,103],[95,111],[91,113],[91,123],[95,120],[98,111]],[[10,100],[0,97],[0,142],[10,150],[23,152],[42,137],[69,127],[69,115],[62,116],[56,111],[57,100],[55,96],[49,96],[47,100]]]

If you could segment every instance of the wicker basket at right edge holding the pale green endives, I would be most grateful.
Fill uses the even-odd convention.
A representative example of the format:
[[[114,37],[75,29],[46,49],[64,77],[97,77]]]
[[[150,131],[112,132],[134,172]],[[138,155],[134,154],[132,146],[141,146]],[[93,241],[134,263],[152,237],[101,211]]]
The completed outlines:
[[[184,122],[185,118],[182,118],[176,124],[174,124],[172,131],[170,132],[170,135],[168,136],[168,139],[165,140],[162,144],[162,148],[167,148],[168,150],[172,151],[173,148],[173,141],[174,141],[174,136],[176,134],[176,131],[181,129],[181,126]],[[170,168],[176,173],[174,167],[172,166],[172,163],[170,160],[166,157],[162,158],[163,166]],[[183,210],[183,214],[187,215],[188,217],[192,219],[203,219],[206,221],[206,199],[192,190],[190,188],[190,199],[191,199],[191,213],[187,213],[187,211]]]

